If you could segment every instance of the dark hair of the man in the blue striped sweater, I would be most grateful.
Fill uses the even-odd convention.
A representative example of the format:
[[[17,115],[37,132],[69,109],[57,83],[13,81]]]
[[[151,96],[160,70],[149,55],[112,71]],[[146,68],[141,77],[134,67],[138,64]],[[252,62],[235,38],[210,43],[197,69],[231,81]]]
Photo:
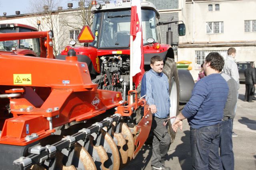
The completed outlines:
[[[219,72],[221,72],[222,68],[224,67],[223,57],[216,52],[209,53],[206,56],[205,61],[207,63],[210,62],[210,67]]]

